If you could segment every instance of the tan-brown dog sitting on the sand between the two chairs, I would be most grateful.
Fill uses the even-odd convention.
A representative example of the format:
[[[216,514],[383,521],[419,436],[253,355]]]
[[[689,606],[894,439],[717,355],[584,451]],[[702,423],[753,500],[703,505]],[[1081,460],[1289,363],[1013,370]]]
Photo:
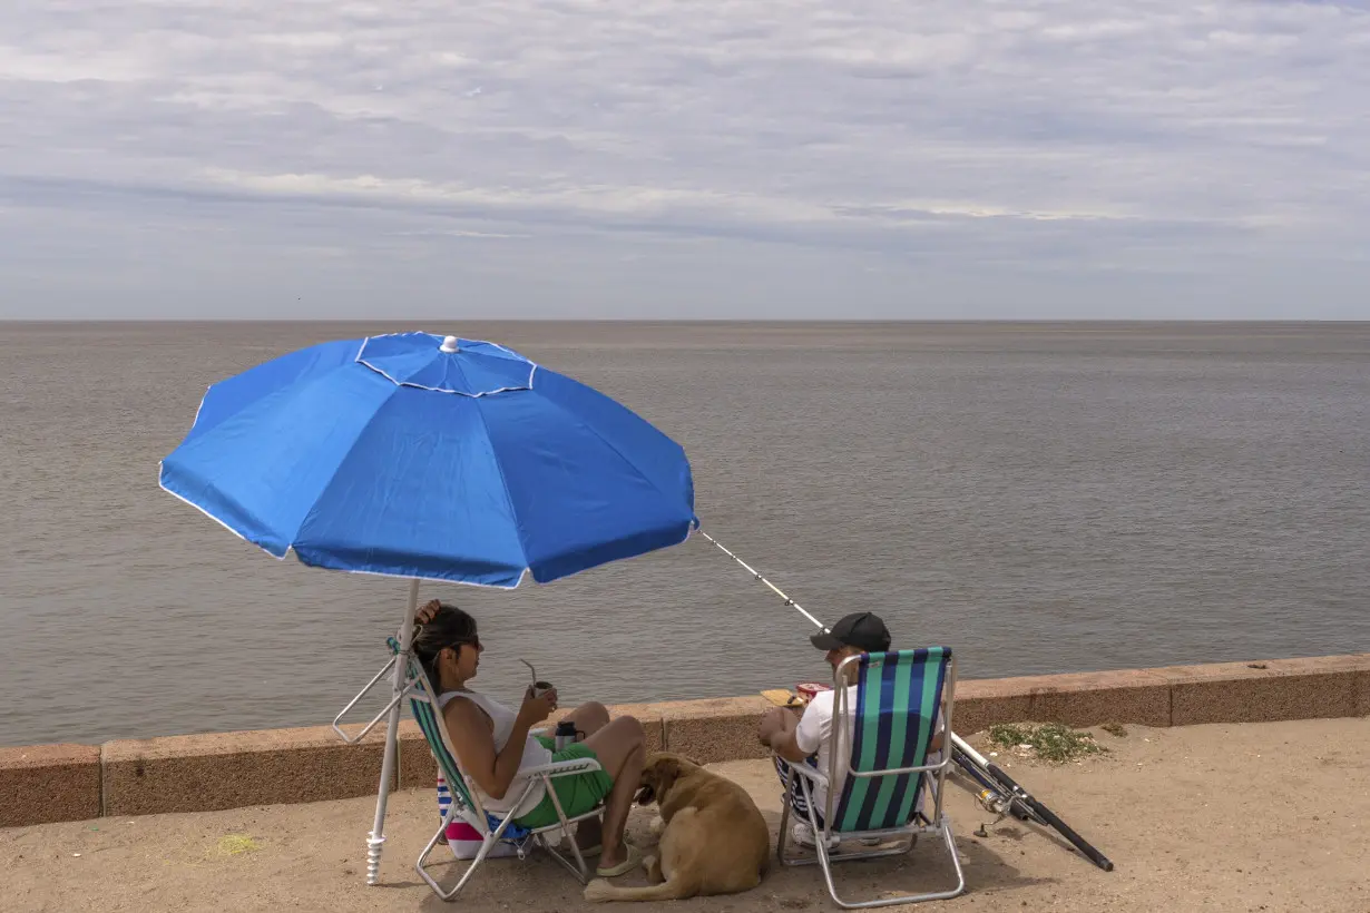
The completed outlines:
[[[680,754],[653,751],[643,768],[637,802],[655,801],[662,835],[643,860],[651,887],[585,886],[586,901],[675,901],[737,894],[762,883],[770,864],[770,830],[747,790]]]

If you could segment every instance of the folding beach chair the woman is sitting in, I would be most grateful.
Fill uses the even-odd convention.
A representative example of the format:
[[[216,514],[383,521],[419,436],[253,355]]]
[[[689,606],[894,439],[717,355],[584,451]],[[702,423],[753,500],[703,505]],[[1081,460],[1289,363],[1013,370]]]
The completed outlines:
[[[399,642],[395,638],[389,639],[390,649],[399,650]],[[529,784],[523,795],[514,797],[515,802],[511,803],[512,809],[516,809],[523,802],[523,797],[527,791],[532,791],[537,783],[537,777],[543,780],[547,794],[552,797],[552,805],[556,808],[556,816],[560,819],[556,824],[551,824],[544,828],[529,830],[519,827],[514,823],[514,812],[507,812],[503,816],[486,812],[481,805],[480,794],[470,788],[466,782],[466,776],[462,773],[460,767],[456,762],[456,749],[452,746],[452,739],[448,735],[447,724],[443,721],[443,715],[437,712],[437,702],[432,697],[433,687],[427,680],[427,675],[423,672],[422,664],[416,657],[410,656],[406,664],[406,694],[410,699],[410,710],[414,713],[414,720],[419,724],[419,730],[423,732],[423,739],[427,742],[429,750],[433,753],[433,758],[437,761],[438,772],[447,782],[447,787],[451,793],[451,805],[448,805],[447,814],[443,817],[443,823],[433,839],[427,842],[423,847],[423,853],[419,854],[419,860],[415,864],[415,869],[419,877],[427,883],[433,892],[444,901],[452,901],[456,898],[458,892],[475,873],[490,851],[499,845],[512,846],[518,857],[526,858],[527,851],[532,847],[543,847],[547,850],[553,860],[560,862],[571,875],[580,880],[581,884],[589,882],[589,866],[585,864],[585,857],[581,856],[580,847],[575,845],[574,839],[570,839],[570,851],[574,861],[558,851],[552,836],[556,838],[556,843],[560,838],[571,836],[571,825],[577,821],[584,821],[599,816],[603,812],[603,805],[596,806],[585,814],[580,814],[573,819],[566,817],[564,809],[562,809],[560,801],[556,798],[556,791],[552,790],[552,780],[559,776],[567,776],[571,773],[584,773],[586,771],[600,769],[599,761],[589,758],[574,760],[574,761],[553,761],[552,764],[544,764],[543,767],[530,768],[527,771],[519,771],[519,773],[529,775]],[[541,731],[534,732],[534,735],[541,734]],[[429,873],[425,868],[427,857],[433,853],[433,847],[438,845],[438,840],[447,832],[447,825],[451,821],[462,820],[470,824],[477,834],[481,835],[481,849],[477,851],[475,858],[466,866],[462,872],[462,877],[458,883],[449,888],[443,890],[443,886]]]

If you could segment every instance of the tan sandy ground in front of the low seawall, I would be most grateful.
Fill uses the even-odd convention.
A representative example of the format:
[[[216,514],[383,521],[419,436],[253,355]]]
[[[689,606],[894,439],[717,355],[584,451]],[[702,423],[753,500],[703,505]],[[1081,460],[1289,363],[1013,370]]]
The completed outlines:
[[[1370,912],[1370,719],[1128,727],[1122,738],[1097,738],[1108,756],[1064,767],[1012,758],[1010,772],[1117,869],[1101,872],[1015,821],[975,838],[989,816],[952,787],[969,887],[938,909]],[[766,762],[714,769],[745,784],[774,828],[780,795]],[[492,861],[455,906],[441,903],[412,868],[436,828],[426,790],[392,798],[384,884],[367,887],[373,808],[374,798],[362,798],[0,830],[0,910],[630,909],[584,902],[580,886],[541,856]],[[630,839],[640,845],[649,843],[649,816],[633,813]],[[255,849],[230,851],[244,849],[240,836]],[[451,884],[458,864],[434,858],[445,860],[437,871]],[[851,862],[837,875],[869,898],[947,884],[951,869],[923,840],[908,857]],[[747,894],[640,908],[837,909],[817,868],[782,866]]]

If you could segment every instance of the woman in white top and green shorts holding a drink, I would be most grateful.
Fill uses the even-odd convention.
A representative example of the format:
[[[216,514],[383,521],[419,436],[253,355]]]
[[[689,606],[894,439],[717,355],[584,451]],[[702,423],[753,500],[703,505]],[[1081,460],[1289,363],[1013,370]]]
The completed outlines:
[[[497,813],[514,808],[529,783],[527,776],[519,776],[521,769],[552,761],[596,760],[603,771],[553,777],[552,788],[567,817],[584,814],[604,801],[603,820],[581,821],[575,830],[581,853],[600,857],[596,875],[615,877],[637,868],[641,857],[636,847],[623,842],[623,827],[647,757],[643,724],[630,716],[610,720],[603,704],[582,704],[567,719],[575,720],[584,741],[553,751],[552,739],[532,736],[529,730],[556,709],[555,690],[533,697],[529,689],[518,712],[510,710],[467,687],[484,650],[475,619],[433,600],[419,609],[415,620],[419,630],[414,636],[414,653],[437,691],[438,712],[447,723],[458,762],[480,791],[481,803]],[[558,820],[552,797],[537,777],[514,821],[540,828]]]

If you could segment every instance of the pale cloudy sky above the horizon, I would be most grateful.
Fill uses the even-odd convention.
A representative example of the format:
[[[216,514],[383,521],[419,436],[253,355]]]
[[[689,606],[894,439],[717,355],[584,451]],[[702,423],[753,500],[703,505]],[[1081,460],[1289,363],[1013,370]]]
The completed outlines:
[[[1370,3],[7,0],[0,318],[1370,319]]]

